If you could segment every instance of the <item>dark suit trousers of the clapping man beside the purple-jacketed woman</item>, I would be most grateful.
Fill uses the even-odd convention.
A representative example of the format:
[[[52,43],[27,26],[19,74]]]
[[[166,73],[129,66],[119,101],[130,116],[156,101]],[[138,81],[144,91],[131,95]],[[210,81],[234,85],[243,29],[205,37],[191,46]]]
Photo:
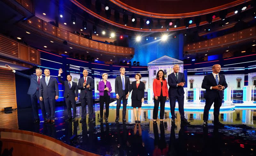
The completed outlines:
[[[82,106],[82,119],[86,119],[86,103],[88,104],[88,113],[89,118],[93,118],[93,105],[92,105],[92,98],[84,97],[81,99],[81,106]]]

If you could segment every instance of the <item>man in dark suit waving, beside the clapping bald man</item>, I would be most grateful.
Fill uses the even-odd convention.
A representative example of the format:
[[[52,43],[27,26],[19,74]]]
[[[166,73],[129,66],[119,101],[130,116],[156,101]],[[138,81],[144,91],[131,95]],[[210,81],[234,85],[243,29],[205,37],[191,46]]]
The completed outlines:
[[[67,105],[68,119],[66,121],[72,120],[71,106],[73,108],[73,121],[76,120],[76,100],[78,98],[78,88],[76,82],[72,82],[72,76],[67,75],[68,81],[61,80],[62,69],[59,69],[58,81],[65,86],[64,97]]]

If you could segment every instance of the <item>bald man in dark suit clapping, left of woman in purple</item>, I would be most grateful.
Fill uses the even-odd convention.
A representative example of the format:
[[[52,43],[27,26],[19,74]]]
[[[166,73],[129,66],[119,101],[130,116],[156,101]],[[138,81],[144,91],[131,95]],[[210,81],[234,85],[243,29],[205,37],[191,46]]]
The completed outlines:
[[[93,103],[92,103],[92,90],[94,89],[94,82],[91,77],[88,77],[88,71],[83,71],[83,77],[78,81],[78,89],[80,89],[80,100],[82,106],[82,119],[80,123],[86,122],[86,105],[88,104],[89,122],[93,122]]]

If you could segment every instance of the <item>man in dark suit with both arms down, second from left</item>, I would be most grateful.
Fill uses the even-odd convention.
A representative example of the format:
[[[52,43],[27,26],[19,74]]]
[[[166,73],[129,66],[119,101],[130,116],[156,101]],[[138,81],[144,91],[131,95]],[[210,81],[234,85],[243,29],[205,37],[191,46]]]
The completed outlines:
[[[45,77],[40,81],[39,98],[43,101],[47,112],[47,123],[55,123],[55,100],[59,98],[57,79],[50,76],[50,70],[44,69]]]

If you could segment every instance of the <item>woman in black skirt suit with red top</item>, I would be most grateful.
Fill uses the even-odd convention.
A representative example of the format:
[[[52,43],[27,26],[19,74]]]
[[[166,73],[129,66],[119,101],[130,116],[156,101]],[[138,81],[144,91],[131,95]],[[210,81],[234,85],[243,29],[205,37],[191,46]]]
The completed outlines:
[[[144,83],[140,81],[141,75],[135,74],[134,76],[136,81],[133,81],[130,87],[129,92],[132,91],[132,107],[133,107],[133,114],[135,117],[135,123],[140,123],[140,115],[141,115],[141,103],[144,102]],[[136,107],[138,107],[138,118],[137,118],[137,111]]]

